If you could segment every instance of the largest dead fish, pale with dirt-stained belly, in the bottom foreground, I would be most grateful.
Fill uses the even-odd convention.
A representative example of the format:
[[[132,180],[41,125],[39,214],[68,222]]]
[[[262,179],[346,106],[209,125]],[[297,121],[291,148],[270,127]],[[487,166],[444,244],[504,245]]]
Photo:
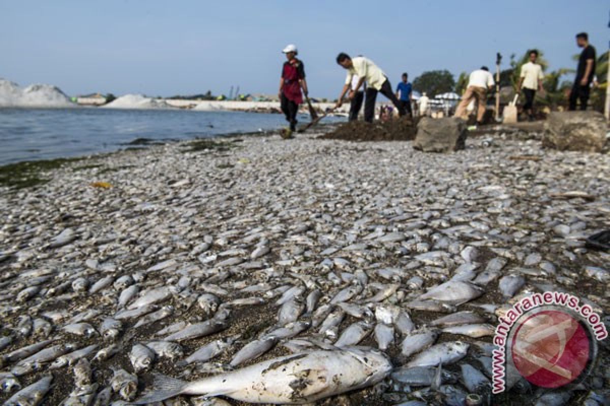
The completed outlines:
[[[153,389],[134,404],[160,402],[179,394],[222,395],[254,403],[306,404],[374,385],[391,369],[386,355],[374,350],[304,352],[195,382],[156,375]]]

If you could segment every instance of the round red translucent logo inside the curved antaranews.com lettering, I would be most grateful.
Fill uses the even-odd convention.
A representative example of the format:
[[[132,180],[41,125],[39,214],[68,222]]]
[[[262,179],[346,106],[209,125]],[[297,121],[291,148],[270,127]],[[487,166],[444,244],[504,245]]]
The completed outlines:
[[[514,332],[512,361],[525,379],[543,388],[558,388],[581,376],[590,360],[591,343],[583,325],[561,310],[542,310]]]

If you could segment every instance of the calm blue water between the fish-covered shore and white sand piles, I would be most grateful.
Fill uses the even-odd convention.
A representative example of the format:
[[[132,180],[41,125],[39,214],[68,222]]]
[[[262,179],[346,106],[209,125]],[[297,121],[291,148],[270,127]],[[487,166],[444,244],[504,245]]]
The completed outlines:
[[[0,108],[0,165],[110,152],[137,138],[206,138],[285,125],[282,114],[232,111]]]

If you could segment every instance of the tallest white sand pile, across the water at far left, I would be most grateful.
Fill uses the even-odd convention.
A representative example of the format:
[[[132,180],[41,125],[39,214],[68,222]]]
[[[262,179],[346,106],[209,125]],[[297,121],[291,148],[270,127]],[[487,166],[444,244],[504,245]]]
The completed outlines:
[[[0,107],[76,107],[57,86],[29,85],[0,79]]]

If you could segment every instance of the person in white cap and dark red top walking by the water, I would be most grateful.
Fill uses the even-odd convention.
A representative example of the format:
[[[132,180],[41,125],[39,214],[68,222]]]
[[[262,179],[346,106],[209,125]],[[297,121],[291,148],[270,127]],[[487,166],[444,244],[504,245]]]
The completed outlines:
[[[290,44],[282,51],[286,54],[287,61],[282,66],[282,77],[279,80],[279,100],[282,113],[286,121],[290,123],[290,131],[296,130],[296,113],[299,105],[303,103],[303,93],[307,96],[307,81],[305,80],[305,69],[303,62],[296,58],[299,51],[296,46]]]

